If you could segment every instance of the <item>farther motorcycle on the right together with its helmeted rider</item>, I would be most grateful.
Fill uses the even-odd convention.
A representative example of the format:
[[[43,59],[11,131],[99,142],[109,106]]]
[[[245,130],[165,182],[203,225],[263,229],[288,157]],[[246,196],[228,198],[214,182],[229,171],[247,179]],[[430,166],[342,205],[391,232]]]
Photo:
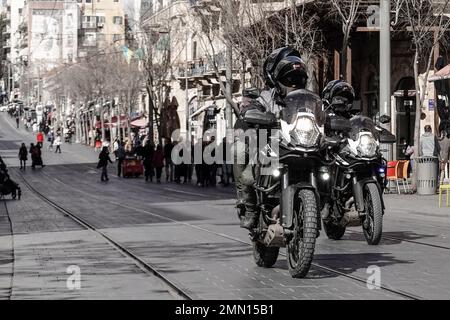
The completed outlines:
[[[328,88],[327,88],[328,87]],[[330,83],[324,90],[325,134],[333,141],[327,159],[330,177],[328,197],[322,211],[323,228],[328,238],[339,240],[349,226],[362,226],[369,245],[381,240],[385,205],[386,160],[380,143],[395,143],[395,136],[357,115],[353,109],[353,88],[342,81]],[[330,90],[331,87],[331,90]],[[380,123],[390,122],[389,116]]]

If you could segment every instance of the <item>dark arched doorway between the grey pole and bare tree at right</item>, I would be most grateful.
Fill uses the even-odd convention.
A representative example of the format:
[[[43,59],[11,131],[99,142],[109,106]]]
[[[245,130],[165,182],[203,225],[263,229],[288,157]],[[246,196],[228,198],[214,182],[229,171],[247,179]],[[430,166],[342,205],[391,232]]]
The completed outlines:
[[[416,91],[414,77],[401,78],[395,87],[397,159],[406,159],[407,145],[414,143]]]

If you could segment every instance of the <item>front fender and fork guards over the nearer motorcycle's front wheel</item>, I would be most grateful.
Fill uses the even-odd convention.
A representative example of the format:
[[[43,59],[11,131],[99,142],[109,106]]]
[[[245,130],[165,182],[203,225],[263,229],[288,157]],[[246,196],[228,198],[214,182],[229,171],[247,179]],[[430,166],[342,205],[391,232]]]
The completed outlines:
[[[281,212],[281,225],[283,228],[291,229],[293,226],[293,220],[294,220],[294,203],[296,196],[298,194],[298,191],[301,189],[309,189],[314,192],[314,195],[316,196],[316,204],[319,206],[320,204],[320,195],[317,192],[317,189],[309,184],[309,183],[297,183],[288,186],[285,189],[282,189],[281,191],[281,201],[280,201],[280,212]],[[320,228],[320,210],[317,210],[317,221],[318,226]]]

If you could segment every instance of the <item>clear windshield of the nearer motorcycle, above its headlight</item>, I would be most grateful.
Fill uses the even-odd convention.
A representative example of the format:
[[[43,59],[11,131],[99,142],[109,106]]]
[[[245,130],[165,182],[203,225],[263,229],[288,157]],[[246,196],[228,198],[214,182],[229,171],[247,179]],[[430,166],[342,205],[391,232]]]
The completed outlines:
[[[314,114],[319,126],[324,124],[325,115],[322,111],[322,100],[320,97],[308,90],[299,89],[290,92],[284,99],[284,107],[281,111],[281,119],[288,124],[297,120],[299,112],[310,112]]]

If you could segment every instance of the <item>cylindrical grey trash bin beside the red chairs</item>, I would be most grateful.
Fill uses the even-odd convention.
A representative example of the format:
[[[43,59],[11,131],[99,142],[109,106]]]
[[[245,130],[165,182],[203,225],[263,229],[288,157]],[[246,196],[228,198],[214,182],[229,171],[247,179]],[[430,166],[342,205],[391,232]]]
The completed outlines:
[[[419,157],[417,160],[417,194],[436,194],[438,158]]]

